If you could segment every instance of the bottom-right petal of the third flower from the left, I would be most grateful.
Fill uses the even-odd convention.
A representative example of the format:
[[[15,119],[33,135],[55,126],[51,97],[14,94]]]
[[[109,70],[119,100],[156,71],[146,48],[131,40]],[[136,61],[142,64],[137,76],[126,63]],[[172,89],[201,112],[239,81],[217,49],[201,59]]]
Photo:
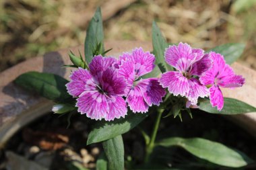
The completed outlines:
[[[201,85],[199,80],[195,78],[189,79],[189,93],[187,93],[187,99],[191,101],[191,105],[197,105],[198,97],[207,97],[209,95],[209,89],[204,85]]]

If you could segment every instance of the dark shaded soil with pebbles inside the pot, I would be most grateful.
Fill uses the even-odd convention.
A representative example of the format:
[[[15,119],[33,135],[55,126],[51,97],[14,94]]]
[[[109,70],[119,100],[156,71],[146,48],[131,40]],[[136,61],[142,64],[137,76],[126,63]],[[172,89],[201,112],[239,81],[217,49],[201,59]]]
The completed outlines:
[[[256,160],[255,138],[245,130],[230,122],[223,115],[193,113],[193,119],[183,113],[183,122],[179,118],[162,118],[158,139],[168,136],[201,137],[221,142],[226,146],[236,148]],[[1,152],[0,169],[6,169],[6,153],[11,151],[32,160],[49,169],[77,169],[77,164],[88,169],[95,169],[96,159],[102,153],[101,144],[86,145],[91,124],[86,116],[75,114],[69,116],[49,113],[35,122],[22,128],[9,140]],[[155,115],[151,114],[139,124],[148,134],[154,124]],[[126,167],[142,165],[144,159],[145,142],[139,128],[123,134],[125,144]],[[151,164],[160,164],[162,167],[181,167],[189,169],[224,169],[197,159],[181,148],[156,148]],[[172,156],[174,155],[174,156]],[[132,160],[132,161],[131,161]],[[207,168],[205,168],[207,167]],[[248,169],[256,167],[248,167]],[[147,168],[148,169],[148,168]],[[154,169],[151,165],[150,169]],[[159,169],[159,168],[158,168]]]

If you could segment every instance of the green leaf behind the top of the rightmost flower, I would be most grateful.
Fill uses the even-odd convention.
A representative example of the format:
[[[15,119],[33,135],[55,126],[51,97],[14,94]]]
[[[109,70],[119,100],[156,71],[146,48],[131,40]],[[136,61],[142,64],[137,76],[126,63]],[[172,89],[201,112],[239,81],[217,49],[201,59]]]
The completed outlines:
[[[226,60],[228,65],[231,65],[234,61],[236,61],[243,51],[245,50],[245,44],[243,43],[229,43],[221,46],[216,46],[207,52],[214,51],[222,54]]]

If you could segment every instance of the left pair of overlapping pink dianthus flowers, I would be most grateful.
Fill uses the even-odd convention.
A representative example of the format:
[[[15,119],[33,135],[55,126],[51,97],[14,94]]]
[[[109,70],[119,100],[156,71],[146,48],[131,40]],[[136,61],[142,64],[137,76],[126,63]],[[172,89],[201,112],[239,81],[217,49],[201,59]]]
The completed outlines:
[[[119,60],[94,56],[89,70],[79,68],[70,76],[67,91],[77,97],[78,112],[95,120],[114,120],[133,112],[147,112],[166,94],[158,78],[140,79],[154,69],[155,57],[136,48]]]

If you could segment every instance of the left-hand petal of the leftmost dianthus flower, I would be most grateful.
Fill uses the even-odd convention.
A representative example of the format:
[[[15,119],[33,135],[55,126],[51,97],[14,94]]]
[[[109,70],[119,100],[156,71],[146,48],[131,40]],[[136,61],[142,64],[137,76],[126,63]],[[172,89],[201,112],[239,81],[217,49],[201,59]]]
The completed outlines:
[[[67,83],[67,92],[73,97],[77,97],[84,91],[96,90],[96,84],[90,75],[89,71],[86,69],[79,68],[70,76],[71,81]]]

